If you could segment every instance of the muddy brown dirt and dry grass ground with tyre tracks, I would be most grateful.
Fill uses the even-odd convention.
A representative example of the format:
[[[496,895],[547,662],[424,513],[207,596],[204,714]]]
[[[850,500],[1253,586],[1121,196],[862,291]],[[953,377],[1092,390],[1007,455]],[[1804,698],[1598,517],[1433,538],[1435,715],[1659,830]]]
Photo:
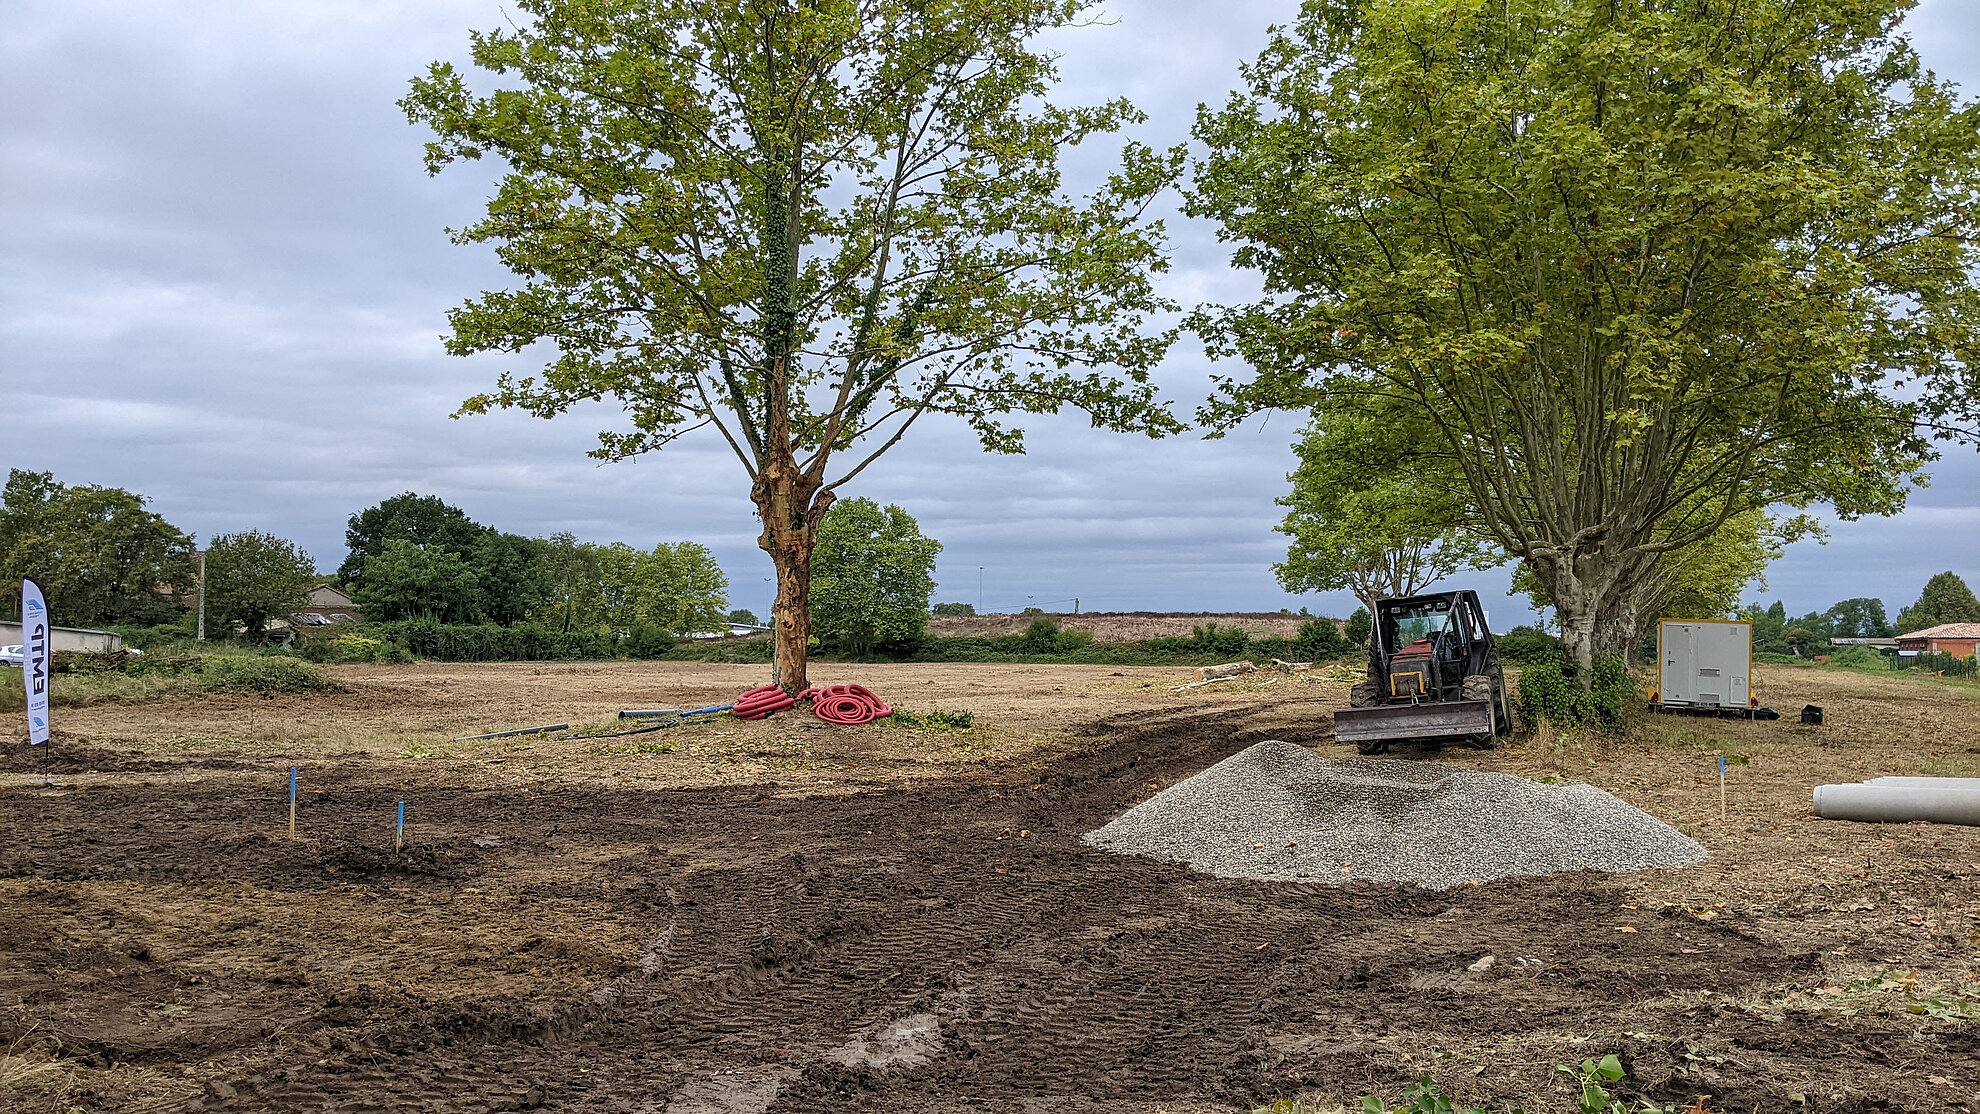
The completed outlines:
[[[1327,681],[828,665],[976,726],[451,742],[762,669],[335,675],[57,708],[55,788],[4,754],[0,1106],[1184,1114],[1430,1074],[1562,1110],[1554,1065],[1618,1053],[1630,1094],[1699,1110],[1980,1110],[1980,829],[1808,813],[1820,782],[1980,776],[1974,687],[1766,669],[1788,720],[1445,752],[1602,786],[1711,859],[1439,894],[1079,843],[1261,738],[1344,756]]]

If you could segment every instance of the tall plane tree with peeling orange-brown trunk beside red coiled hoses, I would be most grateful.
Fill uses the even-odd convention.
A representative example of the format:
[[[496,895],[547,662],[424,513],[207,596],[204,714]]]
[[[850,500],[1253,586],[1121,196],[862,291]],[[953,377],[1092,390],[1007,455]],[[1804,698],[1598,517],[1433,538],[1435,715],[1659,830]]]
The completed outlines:
[[[701,429],[735,453],[776,564],[776,681],[806,685],[820,520],[927,416],[1022,451],[1012,414],[1180,423],[1146,378],[1170,332],[1129,144],[1089,196],[1061,150],[1138,119],[1047,101],[1043,32],[1089,0],[521,0],[404,107],[428,168],[507,162],[487,214],[523,281],[453,311],[455,354],[550,352],[463,410],[606,400],[622,459]]]

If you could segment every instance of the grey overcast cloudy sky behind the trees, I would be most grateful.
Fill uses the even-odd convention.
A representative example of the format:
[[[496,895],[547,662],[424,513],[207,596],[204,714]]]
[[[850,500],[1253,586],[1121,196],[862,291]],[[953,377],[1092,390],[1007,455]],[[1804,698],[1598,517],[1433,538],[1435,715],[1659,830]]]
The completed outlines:
[[[1115,0],[1111,26],[1057,36],[1059,103],[1127,95],[1137,139],[1176,142],[1220,101],[1291,0]],[[632,463],[584,453],[614,416],[447,416],[497,358],[449,358],[446,311],[509,275],[444,230],[479,214],[491,170],[428,178],[424,133],[394,103],[434,59],[465,61],[491,0],[10,0],[0,20],[0,467],[139,491],[200,538],[263,528],[319,568],[345,518],[400,491],[481,522],[590,540],[699,540],[735,605],[762,611],[768,558],[735,457],[693,441]],[[1980,4],[1925,0],[1911,34],[1980,87]],[[1184,305],[1243,299],[1210,228],[1168,216]],[[1188,338],[1160,382],[1188,414],[1210,360]],[[1271,576],[1293,416],[1146,441],[1077,418],[1030,425],[1030,455],[990,457],[960,425],[917,427],[847,491],[899,503],[946,550],[940,600],[990,609],[1344,613]],[[1835,524],[1768,574],[1808,611],[1925,578],[1980,584],[1980,479],[1948,449],[1899,518]],[[978,572],[982,570],[982,572]],[[1497,625],[1525,617],[1491,586]],[[1756,592],[1758,596],[1758,592]],[[1069,605],[1069,603],[1067,603]]]

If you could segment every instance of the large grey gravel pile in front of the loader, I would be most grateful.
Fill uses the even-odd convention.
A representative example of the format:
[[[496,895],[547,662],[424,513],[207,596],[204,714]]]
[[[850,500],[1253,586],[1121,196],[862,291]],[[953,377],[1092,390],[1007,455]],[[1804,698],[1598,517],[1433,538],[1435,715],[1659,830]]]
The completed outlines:
[[[1622,799],[1445,762],[1327,760],[1259,742],[1148,797],[1087,843],[1226,879],[1414,882],[1643,871],[1705,849]]]

